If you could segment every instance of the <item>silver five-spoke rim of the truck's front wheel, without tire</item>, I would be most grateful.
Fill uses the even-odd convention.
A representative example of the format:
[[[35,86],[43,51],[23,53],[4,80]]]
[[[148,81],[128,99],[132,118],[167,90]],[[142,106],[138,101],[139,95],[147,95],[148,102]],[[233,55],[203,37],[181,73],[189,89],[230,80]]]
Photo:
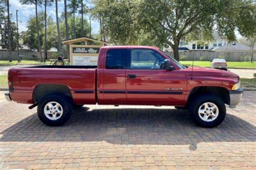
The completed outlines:
[[[214,103],[207,102],[199,107],[198,114],[200,119],[210,122],[217,119],[219,115],[219,108]]]

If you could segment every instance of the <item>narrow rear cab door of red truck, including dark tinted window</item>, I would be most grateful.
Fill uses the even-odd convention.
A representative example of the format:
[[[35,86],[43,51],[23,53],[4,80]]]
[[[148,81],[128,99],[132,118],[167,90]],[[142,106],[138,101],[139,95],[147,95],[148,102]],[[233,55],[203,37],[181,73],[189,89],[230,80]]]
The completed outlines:
[[[105,69],[103,69],[102,104],[126,104],[125,60],[126,49],[115,48],[106,51]]]

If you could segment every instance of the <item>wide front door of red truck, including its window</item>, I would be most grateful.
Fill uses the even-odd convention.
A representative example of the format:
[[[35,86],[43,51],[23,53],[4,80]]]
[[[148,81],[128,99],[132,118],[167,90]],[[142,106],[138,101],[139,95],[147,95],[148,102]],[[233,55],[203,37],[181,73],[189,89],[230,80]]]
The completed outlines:
[[[152,49],[127,50],[127,104],[184,105],[186,77],[182,70],[161,69],[165,58]]]

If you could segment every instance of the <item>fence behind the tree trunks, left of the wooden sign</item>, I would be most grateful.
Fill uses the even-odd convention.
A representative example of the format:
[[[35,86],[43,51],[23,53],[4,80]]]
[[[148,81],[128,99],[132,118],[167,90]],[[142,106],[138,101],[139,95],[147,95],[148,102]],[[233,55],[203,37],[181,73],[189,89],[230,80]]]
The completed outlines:
[[[55,52],[47,52],[48,59],[52,58],[52,54]],[[32,51],[20,51],[19,56],[22,56],[22,59],[26,60],[39,60],[40,59],[40,53],[39,52],[32,52]],[[44,52],[42,52],[42,56],[44,58]],[[67,58],[67,54],[64,53],[65,58]],[[11,52],[11,59],[17,60],[18,59],[18,52],[12,51]],[[9,60],[9,52],[8,51],[0,51],[0,60]]]

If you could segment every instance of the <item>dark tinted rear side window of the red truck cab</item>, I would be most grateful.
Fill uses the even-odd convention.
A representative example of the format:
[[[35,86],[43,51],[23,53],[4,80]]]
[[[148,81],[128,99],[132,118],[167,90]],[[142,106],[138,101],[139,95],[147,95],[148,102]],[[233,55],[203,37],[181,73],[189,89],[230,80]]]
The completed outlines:
[[[126,49],[110,49],[106,55],[106,69],[125,69]]]

